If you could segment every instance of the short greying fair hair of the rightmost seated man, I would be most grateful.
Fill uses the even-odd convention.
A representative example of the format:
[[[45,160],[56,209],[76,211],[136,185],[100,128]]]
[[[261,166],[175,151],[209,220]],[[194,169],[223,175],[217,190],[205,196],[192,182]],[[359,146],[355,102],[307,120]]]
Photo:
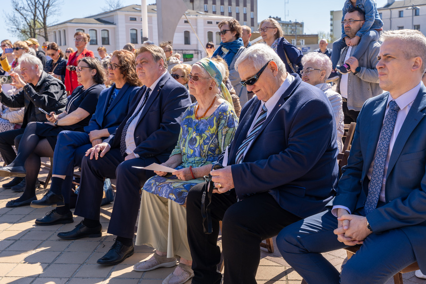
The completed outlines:
[[[426,36],[415,29],[387,30],[382,32],[380,37],[382,41],[399,39],[406,59],[414,57],[422,58],[422,74],[426,70]]]

